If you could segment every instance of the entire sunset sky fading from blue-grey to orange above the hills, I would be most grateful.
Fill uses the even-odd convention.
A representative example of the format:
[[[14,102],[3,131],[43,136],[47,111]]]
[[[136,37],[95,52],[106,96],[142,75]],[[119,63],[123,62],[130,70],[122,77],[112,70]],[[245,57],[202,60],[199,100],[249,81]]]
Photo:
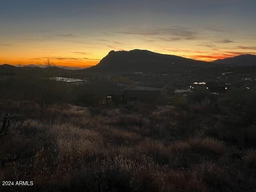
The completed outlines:
[[[110,50],[256,54],[255,0],[0,0],[0,64],[88,67]]]

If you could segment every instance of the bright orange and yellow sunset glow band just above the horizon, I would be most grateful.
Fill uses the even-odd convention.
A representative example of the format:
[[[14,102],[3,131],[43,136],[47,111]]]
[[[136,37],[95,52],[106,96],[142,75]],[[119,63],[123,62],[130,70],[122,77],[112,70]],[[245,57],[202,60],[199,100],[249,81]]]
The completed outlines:
[[[33,42],[34,43],[34,42]],[[186,44],[180,44],[178,48],[169,47],[168,45],[152,45],[144,44],[141,46],[141,42],[130,42],[134,47],[125,46],[110,46],[110,42],[104,49],[98,47],[90,48],[84,47],[83,45],[77,46],[77,44],[68,44],[65,46],[60,43],[52,46],[51,48],[43,48],[35,43],[34,47],[26,47],[20,49],[21,46],[0,46],[0,64],[11,64],[11,65],[28,65],[28,64],[44,64],[44,62],[49,58],[56,66],[68,66],[68,67],[80,67],[87,68],[94,66],[104,58],[110,50],[133,50],[139,48],[141,50],[150,50],[152,52],[157,52],[160,54],[169,54],[182,56],[185,58],[191,58],[194,60],[202,61],[214,61],[217,59],[224,59],[228,57],[234,57],[240,54],[256,54],[252,52],[253,50],[246,48],[205,48],[202,49],[198,46],[186,47]],[[116,44],[116,42],[114,42]],[[128,44],[128,42],[127,42]],[[38,47],[38,48],[35,48]],[[235,51],[234,51],[235,50]],[[15,53],[15,56],[14,54]]]

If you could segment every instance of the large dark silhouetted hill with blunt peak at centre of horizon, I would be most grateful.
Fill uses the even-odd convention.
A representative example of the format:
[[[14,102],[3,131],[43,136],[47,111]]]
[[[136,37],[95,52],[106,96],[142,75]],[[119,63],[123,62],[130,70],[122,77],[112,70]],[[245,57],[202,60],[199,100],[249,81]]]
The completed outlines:
[[[188,59],[175,55],[159,54],[148,50],[110,51],[96,66],[87,68],[91,72],[134,73],[187,70],[193,66],[211,66],[210,62]]]

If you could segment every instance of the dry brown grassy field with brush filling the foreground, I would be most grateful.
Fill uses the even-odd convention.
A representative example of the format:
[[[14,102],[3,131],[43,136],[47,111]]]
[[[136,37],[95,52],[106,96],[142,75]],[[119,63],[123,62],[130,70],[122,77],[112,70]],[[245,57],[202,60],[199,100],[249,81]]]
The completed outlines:
[[[116,108],[0,102],[0,191],[255,191],[256,129],[207,106]]]

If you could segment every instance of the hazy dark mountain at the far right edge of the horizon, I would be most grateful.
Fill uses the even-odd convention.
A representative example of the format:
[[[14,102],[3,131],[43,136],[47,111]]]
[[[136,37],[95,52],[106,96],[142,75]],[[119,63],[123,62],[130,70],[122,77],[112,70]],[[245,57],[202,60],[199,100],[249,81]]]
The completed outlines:
[[[218,59],[213,62],[217,64],[227,64],[236,66],[252,66],[256,65],[256,55],[245,54],[225,59]]]

